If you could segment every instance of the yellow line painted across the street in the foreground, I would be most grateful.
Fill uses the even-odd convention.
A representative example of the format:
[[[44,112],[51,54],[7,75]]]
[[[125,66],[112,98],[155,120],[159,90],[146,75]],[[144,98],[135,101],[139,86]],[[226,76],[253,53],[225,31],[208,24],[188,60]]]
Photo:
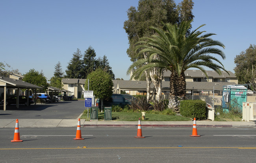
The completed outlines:
[[[76,148],[0,148],[0,150],[37,150],[37,149],[177,149],[177,148],[194,148],[194,149],[256,149],[256,147],[105,147],[105,148],[87,148],[87,147],[76,147]]]

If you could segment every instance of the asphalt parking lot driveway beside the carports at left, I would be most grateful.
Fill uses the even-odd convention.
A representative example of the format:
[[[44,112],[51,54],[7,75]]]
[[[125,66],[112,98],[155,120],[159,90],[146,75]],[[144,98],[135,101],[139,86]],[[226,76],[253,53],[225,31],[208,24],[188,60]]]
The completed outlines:
[[[0,119],[77,119],[86,109],[84,100],[59,101],[30,106],[0,106]]]

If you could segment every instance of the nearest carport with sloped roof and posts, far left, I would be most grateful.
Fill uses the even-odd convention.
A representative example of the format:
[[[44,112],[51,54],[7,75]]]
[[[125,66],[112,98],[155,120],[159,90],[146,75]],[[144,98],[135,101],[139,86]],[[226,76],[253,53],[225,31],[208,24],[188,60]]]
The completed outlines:
[[[27,94],[29,89],[42,89],[42,87],[39,87],[37,85],[33,85],[28,82],[24,82],[22,80],[16,80],[6,77],[0,77],[0,88],[4,88],[4,111],[6,111],[6,89],[17,89],[16,96],[19,97],[19,90],[20,89],[26,89]],[[27,100],[29,100],[27,98]],[[28,101],[27,101],[28,105]],[[19,108],[19,98],[17,98],[16,101],[16,108]]]

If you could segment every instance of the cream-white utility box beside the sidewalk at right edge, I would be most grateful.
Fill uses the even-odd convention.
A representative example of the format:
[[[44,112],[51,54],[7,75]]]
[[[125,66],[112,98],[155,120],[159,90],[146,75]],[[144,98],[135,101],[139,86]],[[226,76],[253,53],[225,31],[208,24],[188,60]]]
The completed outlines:
[[[256,121],[256,102],[243,102],[243,119]]]

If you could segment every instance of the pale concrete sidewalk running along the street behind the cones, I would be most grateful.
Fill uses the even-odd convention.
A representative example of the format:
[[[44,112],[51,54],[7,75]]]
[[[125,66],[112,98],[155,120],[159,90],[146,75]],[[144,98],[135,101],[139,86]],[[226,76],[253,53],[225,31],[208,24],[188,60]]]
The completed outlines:
[[[0,119],[0,128],[15,128],[16,119]],[[78,119],[19,119],[19,127],[76,127]],[[85,121],[81,127],[136,127],[138,121]],[[193,121],[141,121],[143,127],[192,127]],[[197,121],[197,127],[256,128],[256,122]]]

